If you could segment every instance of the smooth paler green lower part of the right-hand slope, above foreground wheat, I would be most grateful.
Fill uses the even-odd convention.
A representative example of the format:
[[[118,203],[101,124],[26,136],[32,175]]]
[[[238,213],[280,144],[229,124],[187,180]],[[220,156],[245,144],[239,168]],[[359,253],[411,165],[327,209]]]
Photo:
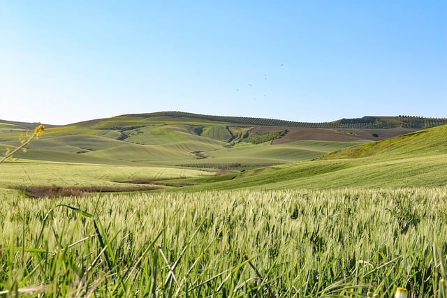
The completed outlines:
[[[302,161],[214,179],[190,179],[193,190],[400,188],[447,185],[447,154],[414,158]]]

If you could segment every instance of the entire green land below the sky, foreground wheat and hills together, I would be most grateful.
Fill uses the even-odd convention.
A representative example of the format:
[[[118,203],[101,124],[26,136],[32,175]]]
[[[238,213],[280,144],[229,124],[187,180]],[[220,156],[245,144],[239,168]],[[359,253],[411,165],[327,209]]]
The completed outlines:
[[[446,297],[447,126],[361,121],[47,126],[0,164],[0,297]]]

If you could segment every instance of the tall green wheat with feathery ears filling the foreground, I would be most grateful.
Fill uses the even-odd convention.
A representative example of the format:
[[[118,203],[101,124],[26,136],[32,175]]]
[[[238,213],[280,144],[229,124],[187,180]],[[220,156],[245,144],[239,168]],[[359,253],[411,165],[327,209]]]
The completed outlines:
[[[0,296],[445,297],[447,189],[0,198]]]

